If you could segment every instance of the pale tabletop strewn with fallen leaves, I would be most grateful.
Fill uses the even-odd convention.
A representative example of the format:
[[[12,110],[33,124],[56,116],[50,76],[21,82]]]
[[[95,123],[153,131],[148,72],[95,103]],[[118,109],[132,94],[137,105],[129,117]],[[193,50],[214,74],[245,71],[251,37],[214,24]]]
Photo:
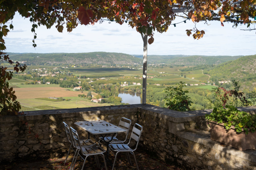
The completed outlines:
[[[80,128],[83,128],[92,135],[121,133],[127,131],[104,120],[78,121],[74,124],[79,126]]]

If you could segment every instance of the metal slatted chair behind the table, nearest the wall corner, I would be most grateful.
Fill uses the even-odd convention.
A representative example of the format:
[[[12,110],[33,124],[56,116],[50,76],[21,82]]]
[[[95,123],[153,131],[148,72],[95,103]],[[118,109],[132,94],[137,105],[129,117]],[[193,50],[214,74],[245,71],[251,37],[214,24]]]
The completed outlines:
[[[120,121],[119,121],[119,125],[118,127],[120,128],[123,128],[125,130],[127,130],[125,133],[126,133],[126,136],[125,136],[125,139],[124,140],[119,140],[116,138],[117,134],[113,137],[112,139],[112,136],[106,136],[104,137],[104,140],[102,137],[99,137],[99,145],[104,145],[105,142],[109,142],[109,143],[123,143],[126,141],[127,139],[127,136],[128,136],[128,132],[129,132],[129,129],[130,129],[130,126],[131,126],[131,120],[130,119],[127,119],[127,118],[121,118]],[[112,141],[111,141],[112,140]],[[102,143],[102,141],[104,143]],[[104,145],[106,146],[106,145]]]

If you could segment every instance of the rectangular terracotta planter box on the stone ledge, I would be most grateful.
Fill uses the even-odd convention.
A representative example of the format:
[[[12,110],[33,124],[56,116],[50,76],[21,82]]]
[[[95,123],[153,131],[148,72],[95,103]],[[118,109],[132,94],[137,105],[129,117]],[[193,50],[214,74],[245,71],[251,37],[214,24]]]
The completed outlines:
[[[238,150],[255,149],[256,146],[256,133],[251,131],[247,135],[245,132],[236,133],[234,126],[227,131],[223,124],[210,122],[210,133],[211,140],[232,146]]]

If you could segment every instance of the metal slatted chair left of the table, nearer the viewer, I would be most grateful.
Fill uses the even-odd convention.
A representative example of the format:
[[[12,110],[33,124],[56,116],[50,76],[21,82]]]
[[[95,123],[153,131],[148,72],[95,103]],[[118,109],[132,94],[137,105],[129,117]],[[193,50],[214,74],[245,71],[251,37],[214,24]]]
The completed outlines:
[[[100,155],[100,156],[102,156],[102,158],[104,160],[105,169],[107,170],[106,160],[105,160],[105,156],[103,154],[104,152],[106,152],[106,150],[104,150],[100,146],[82,147],[81,143],[80,143],[80,140],[79,140],[79,137],[78,137],[77,131],[75,129],[73,129],[72,127],[70,127],[70,130],[71,130],[71,137],[73,138],[73,141],[74,141],[75,146],[77,148],[77,152],[75,153],[74,158],[73,158],[73,160],[75,159],[75,161],[72,161],[73,165],[72,164],[70,165],[70,170],[75,167],[75,163],[77,161],[78,155],[84,160],[82,169],[84,168],[84,164],[85,164],[86,159],[87,159],[88,156],[94,155],[96,163],[98,164],[98,157],[97,156]],[[79,152],[81,152],[81,155],[79,154]],[[85,157],[83,158],[83,156],[85,156]]]

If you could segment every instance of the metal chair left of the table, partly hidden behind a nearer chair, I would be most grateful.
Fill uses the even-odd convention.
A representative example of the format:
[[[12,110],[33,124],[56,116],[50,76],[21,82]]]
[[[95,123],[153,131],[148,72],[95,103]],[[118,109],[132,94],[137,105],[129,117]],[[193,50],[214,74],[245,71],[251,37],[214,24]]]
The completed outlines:
[[[62,122],[62,123],[63,123],[63,125],[64,125],[64,129],[65,129],[65,132],[66,132],[66,135],[67,135],[67,139],[68,139],[69,143],[71,143],[71,145],[70,145],[70,147],[69,147],[69,151],[68,151],[68,153],[67,153],[67,157],[66,157],[65,162],[64,162],[64,164],[65,164],[66,161],[67,161],[67,158],[68,158],[68,156],[69,156],[70,149],[73,149],[73,151],[75,152],[75,145],[74,145],[73,142],[72,142],[72,138],[71,138],[71,133],[70,133],[70,130],[69,130],[69,126],[68,126],[65,122]],[[95,143],[94,143],[92,140],[90,140],[90,139],[80,140],[80,144],[81,144],[82,147],[95,145]],[[72,163],[71,163],[71,164],[72,164]]]

